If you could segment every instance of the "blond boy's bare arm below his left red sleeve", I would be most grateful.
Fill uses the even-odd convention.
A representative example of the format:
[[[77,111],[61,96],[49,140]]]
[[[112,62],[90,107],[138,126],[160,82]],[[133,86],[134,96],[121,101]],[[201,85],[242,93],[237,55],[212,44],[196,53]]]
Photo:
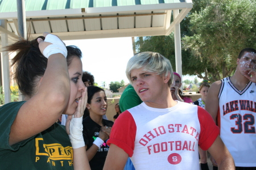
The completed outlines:
[[[104,170],[119,170],[125,168],[128,154],[118,146],[111,144],[104,164]]]

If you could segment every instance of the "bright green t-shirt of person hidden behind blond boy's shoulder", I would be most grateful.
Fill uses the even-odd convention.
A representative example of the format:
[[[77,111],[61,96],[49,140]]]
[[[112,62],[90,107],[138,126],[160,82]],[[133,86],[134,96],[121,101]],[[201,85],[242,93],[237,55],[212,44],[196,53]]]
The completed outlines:
[[[133,108],[139,104],[141,104],[143,101],[137,93],[135,92],[133,86],[129,84],[125,90],[123,91],[120,100],[119,100],[119,107],[121,112],[125,112],[127,109]]]

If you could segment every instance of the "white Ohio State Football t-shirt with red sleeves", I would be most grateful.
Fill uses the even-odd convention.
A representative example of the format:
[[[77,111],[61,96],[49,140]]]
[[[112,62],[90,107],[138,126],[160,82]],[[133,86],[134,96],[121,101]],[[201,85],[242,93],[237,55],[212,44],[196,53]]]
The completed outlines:
[[[108,145],[122,148],[135,169],[199,169],[198,145],[208,150],[220,130],[203,108],[177,101],[158,109],[145,103],[119,115]]]

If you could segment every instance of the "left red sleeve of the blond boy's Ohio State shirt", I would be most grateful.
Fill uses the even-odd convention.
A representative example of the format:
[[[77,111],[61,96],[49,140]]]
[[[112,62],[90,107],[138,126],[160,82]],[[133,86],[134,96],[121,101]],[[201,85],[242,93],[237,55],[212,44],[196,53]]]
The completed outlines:
[[[137,127],[129,111],[121,113],[111,129],[107,144],[122,148],[130,157],[133,156]]]

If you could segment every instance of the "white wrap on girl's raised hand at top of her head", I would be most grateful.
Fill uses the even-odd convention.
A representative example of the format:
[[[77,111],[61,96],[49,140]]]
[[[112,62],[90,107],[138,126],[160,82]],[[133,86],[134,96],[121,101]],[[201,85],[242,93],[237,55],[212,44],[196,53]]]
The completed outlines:
[[[44,57],[49,58],[52,54],[61,53],[65,58],[67,58],[68,52],[65,44],[55,35],[48,34],[44,42],[51,42],[51,45],[48,45],[44,49]]]

